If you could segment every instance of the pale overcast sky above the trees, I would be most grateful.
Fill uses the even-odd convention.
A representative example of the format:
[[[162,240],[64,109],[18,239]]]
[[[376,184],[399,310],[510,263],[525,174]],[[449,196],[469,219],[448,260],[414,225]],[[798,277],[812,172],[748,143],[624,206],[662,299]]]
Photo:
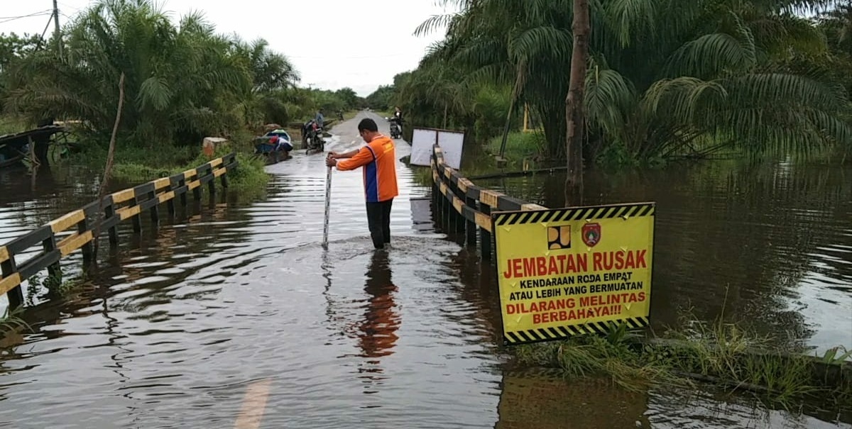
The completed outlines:
[[[59,2],[60,26],[90,0]],[[159,0],[174,20],[199,10],[217,31],[236,32],[245,40],[263,37],[287,55],[302,75],[301,86],[349,87],[366,96],[394,75],[417,67],[424,49],[443,30],[412,35],[423,20],[444,9],[435,0]],[[49,24],[52,0],[0,0],[0,32],[41,34]],[[44,14],[38,14],[43,12]],[[29,14],[35,16],[14,19]]]

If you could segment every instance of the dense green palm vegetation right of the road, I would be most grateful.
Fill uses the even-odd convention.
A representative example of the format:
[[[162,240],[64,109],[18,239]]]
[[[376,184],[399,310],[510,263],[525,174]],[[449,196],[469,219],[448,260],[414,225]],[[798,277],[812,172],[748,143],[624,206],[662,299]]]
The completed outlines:
[[[464,130],[465,157],[492,169],[483,155],[499,151],[507,126],[509,163],[529,152],[564,163],[573,2],[444,3],[460,11],[417,29],[443,29],[444,40],[368,104],[401,106],[409,136],[412,126]],[[852,151],[848,2],[591,0],[590,16],[585,166]],[[544,146],[522,136],[524,106]]]

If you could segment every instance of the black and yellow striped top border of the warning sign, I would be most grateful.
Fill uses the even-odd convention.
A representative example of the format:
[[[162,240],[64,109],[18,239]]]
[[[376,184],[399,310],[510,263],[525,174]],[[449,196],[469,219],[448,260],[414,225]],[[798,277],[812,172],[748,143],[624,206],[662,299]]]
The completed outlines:
[[[492,214],[494,226],[526,225],[572,220],[598,220],[653,216],[656,203],[612,204],[594,207],[572,207],[534,211],[497,212]]]

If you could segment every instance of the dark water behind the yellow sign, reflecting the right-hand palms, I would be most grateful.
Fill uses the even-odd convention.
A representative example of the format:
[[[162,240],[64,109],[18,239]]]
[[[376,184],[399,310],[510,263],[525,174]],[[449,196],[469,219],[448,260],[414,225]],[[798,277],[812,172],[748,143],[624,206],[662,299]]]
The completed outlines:
[[[547,207],[564,176],[481,180]],[[852,346],[852,166],[708,163],[640,174],[591,172],[584,204],[657,202],[655,329],[678,308],[725,315],[779,346]]]

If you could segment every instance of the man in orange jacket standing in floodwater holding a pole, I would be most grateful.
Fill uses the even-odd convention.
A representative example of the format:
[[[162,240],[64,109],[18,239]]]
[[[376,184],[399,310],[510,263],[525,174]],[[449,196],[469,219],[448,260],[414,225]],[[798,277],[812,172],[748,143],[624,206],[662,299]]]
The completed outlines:
[[[367,226],[373,246],[384,249],[384,245],[390,243],[390,206],[400,194],[396,186],[394,140],[380,134],[376,121],[369,117],[358,123],[358,134],[366,146],[345,153],[329,152],[325,163],[329,167],[337,166],[337,171],[364,168]]]

